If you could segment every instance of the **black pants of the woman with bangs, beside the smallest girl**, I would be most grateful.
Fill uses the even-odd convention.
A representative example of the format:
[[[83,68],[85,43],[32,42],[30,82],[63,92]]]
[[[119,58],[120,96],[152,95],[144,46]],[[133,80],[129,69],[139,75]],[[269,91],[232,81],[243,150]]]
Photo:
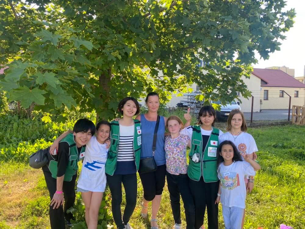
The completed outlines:
[[[215,204],[219,181],[205,183],[203,177],[199,181],[189,179],[195,204],[195,229],[203,224],[204,212],[208,213],[208,228],[218,229],[218,204]]]

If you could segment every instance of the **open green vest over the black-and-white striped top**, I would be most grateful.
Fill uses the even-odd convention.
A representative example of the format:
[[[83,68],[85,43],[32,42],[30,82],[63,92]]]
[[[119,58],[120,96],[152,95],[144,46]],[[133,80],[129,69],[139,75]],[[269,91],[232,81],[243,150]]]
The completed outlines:
[[[141,156],[141,122],[139,120],[134,120],[135,131],[133,140],[133,151],[135,156],[135,166],[139,169],[140,156]],[[110,123],[110,148],[108,151],[108,158],[105,165],[105,173],[110,176],[113,175],[117,168],[117,153],[119,147],[120,139],[120,126],[118,121],[112,121]]]

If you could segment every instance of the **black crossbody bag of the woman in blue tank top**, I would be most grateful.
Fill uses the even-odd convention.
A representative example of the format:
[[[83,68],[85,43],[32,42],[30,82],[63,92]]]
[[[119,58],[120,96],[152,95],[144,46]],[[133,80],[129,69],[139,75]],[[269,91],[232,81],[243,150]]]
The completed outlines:
[[[159,128],[160,116],[157,117],[157,122],[155,126],[155,132],[153,135],[152,141],[152,157],[142,158],[140,159],[139,173],[149,173],[157,170],[157,164],[154,159],[155,151],[156,151],[156,142],[157,142],[157,132]]]

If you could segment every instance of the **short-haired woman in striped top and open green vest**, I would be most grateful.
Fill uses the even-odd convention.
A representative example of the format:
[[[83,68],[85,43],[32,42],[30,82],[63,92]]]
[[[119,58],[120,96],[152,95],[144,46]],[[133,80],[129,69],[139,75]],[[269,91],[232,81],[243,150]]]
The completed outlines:
[[[110,123],[110,148],[105,172],[112,197],[112,215],[117,229],[131,229],[129,219],[137,202],[137,170],[141,154],[141,123],[132,117],[140,111],[138,101],[126,97],[120,101],[118,111],[123,115],[119,121]],[[122,183],[126,205],[122,218]]]

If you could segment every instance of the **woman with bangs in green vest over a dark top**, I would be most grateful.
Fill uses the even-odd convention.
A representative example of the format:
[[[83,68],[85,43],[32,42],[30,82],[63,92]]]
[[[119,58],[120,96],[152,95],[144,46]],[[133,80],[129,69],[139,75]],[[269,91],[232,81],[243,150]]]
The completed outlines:
[[[212,106],[201,107],[199,125],[188,126],[180,131],[191,139],[188,177],[195,204],[195,229],[203,225],[205,209],[209,229],[218,229],[217,197],[218,177],[216,152],[218,137],[223,132],[214,128],[216,112]]]

